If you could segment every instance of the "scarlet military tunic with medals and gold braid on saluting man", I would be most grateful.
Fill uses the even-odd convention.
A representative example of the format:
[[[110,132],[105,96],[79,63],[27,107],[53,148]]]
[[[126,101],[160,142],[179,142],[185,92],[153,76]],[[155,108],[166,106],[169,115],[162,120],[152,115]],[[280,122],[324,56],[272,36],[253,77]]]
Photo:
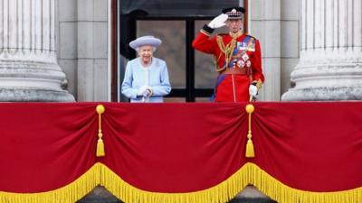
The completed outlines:
[[[198,33],[193,47],[195,50],[214,54],[216,70],[220,72],[215,86],[214,100],[249,101],[250,84],[255,82],[260,88],[264,81],[259,41],[244,33],[235,35],[234,40],[231,34],[210,37],[206,29],[204,27]],[[235,72],[238,74],[233,74]]]

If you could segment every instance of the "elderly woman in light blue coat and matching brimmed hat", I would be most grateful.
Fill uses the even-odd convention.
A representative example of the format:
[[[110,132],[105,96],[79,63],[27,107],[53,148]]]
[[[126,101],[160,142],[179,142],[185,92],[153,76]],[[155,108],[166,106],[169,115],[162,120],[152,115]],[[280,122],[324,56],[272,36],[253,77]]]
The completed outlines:
[[[139,37],[129,43],[138,58],[129,60],[122,83],[122,94],[130,102],[163,102],[171,91],[165,60],[153,57],[161,41],[153,36]]]

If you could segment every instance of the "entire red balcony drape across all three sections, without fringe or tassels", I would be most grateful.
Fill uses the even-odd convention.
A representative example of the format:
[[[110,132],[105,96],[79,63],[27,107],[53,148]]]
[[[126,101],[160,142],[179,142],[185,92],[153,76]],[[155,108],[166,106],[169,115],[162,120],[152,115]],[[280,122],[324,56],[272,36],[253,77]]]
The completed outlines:
[[[102,162],[130,185],[191,192],[247,161],[294,189],[362,187],[362,103],[255,103],[245,158],[246,103],[103,103],[106,156],[96,158],[98,103],[0,105],[0,191],[59,189]]]

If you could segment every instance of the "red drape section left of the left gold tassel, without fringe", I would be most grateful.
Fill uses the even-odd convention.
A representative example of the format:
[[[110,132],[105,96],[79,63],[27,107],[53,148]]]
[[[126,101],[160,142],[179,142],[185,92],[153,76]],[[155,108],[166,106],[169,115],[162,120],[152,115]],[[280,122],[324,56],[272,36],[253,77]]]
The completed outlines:
[[[0,191],[59,189],[95,162],[95,104],[0,105]]]

